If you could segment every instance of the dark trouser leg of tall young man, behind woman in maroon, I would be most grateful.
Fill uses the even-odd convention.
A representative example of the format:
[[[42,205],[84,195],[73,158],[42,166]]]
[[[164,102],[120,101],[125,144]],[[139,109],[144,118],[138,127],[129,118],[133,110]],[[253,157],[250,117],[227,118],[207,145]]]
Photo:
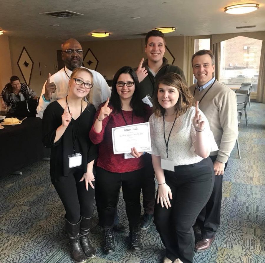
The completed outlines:
[[[155,171],[151,154],[146,153],[143,158],[145,161],[142,174],[143,207],[145,213],[153,214],[155,208]]]

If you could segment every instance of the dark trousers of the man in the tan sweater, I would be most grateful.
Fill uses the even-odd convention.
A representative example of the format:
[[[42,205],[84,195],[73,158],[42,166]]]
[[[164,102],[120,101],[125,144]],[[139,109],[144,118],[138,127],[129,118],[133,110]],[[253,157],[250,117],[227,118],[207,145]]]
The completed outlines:
[[[217,155],[210,156],[214,163]],[[225,164],[226,169],[227,163]],[[223,175],[214,177],[213,192],[206,206],[197,217],[196,224],[201,228],[202,238],[212,238],[220,225]]]

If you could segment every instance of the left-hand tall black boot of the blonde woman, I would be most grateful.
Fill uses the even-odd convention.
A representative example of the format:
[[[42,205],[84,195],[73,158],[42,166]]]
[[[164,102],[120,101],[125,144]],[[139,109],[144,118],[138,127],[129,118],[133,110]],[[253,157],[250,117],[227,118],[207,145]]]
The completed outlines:
[[[87,260],[79,241],[80,223],[81,220],[77,224],[71,224],[65,219],[66,232],[69,238],[69,251],[77,263],[83,263]]]

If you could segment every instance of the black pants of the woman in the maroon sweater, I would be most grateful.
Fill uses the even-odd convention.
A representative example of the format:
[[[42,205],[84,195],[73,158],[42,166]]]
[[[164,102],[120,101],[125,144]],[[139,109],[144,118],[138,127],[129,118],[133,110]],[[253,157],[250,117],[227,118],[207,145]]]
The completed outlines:
[[[141,175],[143,169],[127,173],[112,173],[100,167],[96,168],[96,203],[100,208],[98,216],[104,228],[113,227],[117,196],[122,187],[122,195],[125,201],[126,214],[129,226],[140,223],[140,192]]]

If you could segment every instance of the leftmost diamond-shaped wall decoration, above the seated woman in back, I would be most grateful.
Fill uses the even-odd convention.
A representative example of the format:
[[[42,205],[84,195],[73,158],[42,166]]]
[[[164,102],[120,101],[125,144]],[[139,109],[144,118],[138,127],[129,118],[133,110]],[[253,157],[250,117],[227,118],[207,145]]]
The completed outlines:
[[[19,59],[17,61],[17,65],[19,67],[19,70],[22,74],[22,77],[25,81],[25,83],[29,86],[32,69],[33,69],[34,62],[32,61],[31,57],[29,56],[28,51],[23,46],[23,49],[20,53]]]

